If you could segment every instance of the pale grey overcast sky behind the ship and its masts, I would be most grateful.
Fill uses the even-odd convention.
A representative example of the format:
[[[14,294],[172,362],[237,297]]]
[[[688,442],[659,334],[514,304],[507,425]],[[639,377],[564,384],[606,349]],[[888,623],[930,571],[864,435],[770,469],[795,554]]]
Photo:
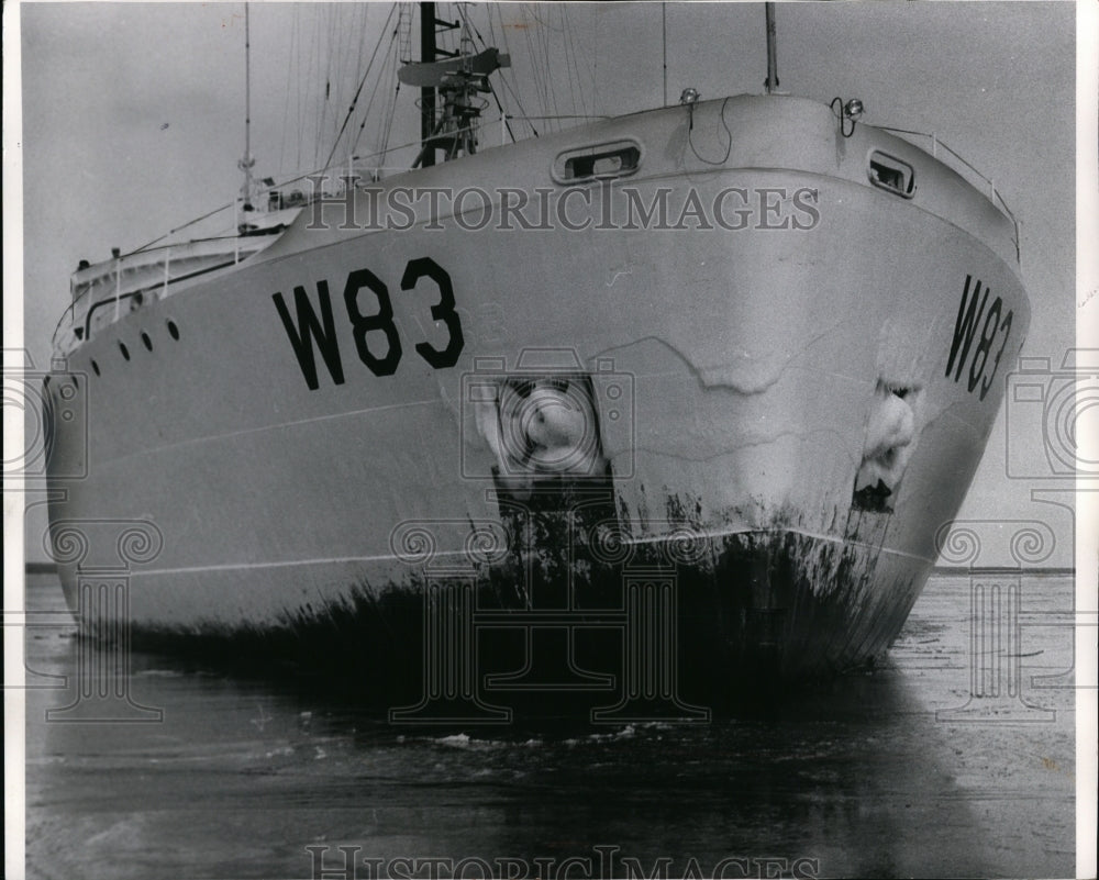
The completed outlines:
[[[80,258],[131,249],[233,198],[244,149],[243,4],[23,3],[19,13],[25,346],[44,366]],[[568,45],[573,63],[567,74],[556,68],[548,112],[612,114],[663,102],[664,13],[671,101],[688,86],[703,98],[762,91],[762,3],[515,4],[491,24],[515,59],[508,79],[528,113],[546,112],[544,71],[531,58],[545,53],[558,65]],[[252,3],[260,176],[326,155],[356,65],[388,14],[388,4]],[[1059,2],[799,3],[777,13],[784,90],[824,102],[858,97],[866,122],[935,131],[996,181],[1022,223],[1033,305],[1023,354],[1058,364],[1077,313],[1075,15]],[[414,137],[410,91],[393,143]],[[378,136],[368,125],[358,152]],[[1001,413],[962,515],[1046,519],[1067,535],[1067,519],[1030,501],[1032,484],[1006,478],[1003,447]],[[1050,561],[1070,564],[1065,550]]]

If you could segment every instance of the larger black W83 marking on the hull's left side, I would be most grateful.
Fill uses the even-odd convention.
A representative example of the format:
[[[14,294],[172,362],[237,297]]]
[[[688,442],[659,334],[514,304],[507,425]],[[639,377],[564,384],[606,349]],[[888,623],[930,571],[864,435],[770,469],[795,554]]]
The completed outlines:
[[[431,316],[442,321],[446,328],[445,344],[440,348],[430,341],[417,343],[415,352],[435,369],[453,367],[465,346],[462,335],[462,320],[454,305],[454,286],[449,272],[431,257],[418,257],[409,260],[401,276],[401,290],[415,289],[421,279],[434,283],[439,290],[439,301],[431,307]],[[375,308],[365,305],[373,296]],[[336,336],[335,319],[332,314],[332,297],[329,293],[329,282],[324,279],[317,282],[317,304],[303,285],[293,288],[293,304],[296,318],[281,292],[271,296],[275,308],[282,320],[290,346],[298,358],[301,375],[311,391],[320,388],[320,377],[317,369],[317,352],[329,370],[329,376],[335,385],[344,383],[343,360],[340,356],[340,343]],[[401,338],[393,321],[393,303],[389,298],[389,288],[369,269],[355,269],[348,272],[344,283],[344,308],[351,324],[352,339],[358,359],[375,376],[392,376],[401,363]],[[364,309],[366,313],[364,314]],[[374,347],[371,347],[370,333]],[[381,334],[384,342],[377,335]]]

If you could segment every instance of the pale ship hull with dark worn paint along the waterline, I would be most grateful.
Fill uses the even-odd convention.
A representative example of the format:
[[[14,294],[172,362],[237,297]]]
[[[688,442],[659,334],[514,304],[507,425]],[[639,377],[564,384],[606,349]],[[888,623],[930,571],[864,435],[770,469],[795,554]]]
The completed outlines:
[[[143,305],[55,377],[55,389],[80,377],[87,410],[84,434],[54,427],[55,552],[74,530],[145,524],[155,556],[125,568],[135,638],[286,651],[343,633],[329,646],[395,680],[437,660],[440,590],[467,597],[453,621],[485,636],[492,656],[477,662],[498,675],[530,660],[539,626],[575,630],[568,649],[589,662],[625,656],[630,603],[645,595],[670,603],[653,625],[675,634],[688,682],[798,680],[880,655],[976,470],[1028,304],[968,185],[897,138],[843,140],[824,109],[770,107],[728,114],[744,135],[720,166],[684,142],[720,158],[723,105],[690,130],[677,109],[587,135],[634,138],[648,160],[598,190],[604,209],[629,210],[626,185],[645,204],[662,187],[711,208],[751,193],[733,229],[476,231],[444,218],[309,232],[299,219],[259,258]],[[795,135],[807,145],[781,155]],[[879,142],[922,172],[923,207],[866,182]],[[530,169],[570,146],[519,145],[446,172],[533,191]],[[473,389],[535,361],[540,377],[584,377],[596,478],[509,474],[478,421]],[[898,400],[908,434],[886,453],[889,486],[859,492],[870,435]],[[79,611],[87,549],[57,557]]]

